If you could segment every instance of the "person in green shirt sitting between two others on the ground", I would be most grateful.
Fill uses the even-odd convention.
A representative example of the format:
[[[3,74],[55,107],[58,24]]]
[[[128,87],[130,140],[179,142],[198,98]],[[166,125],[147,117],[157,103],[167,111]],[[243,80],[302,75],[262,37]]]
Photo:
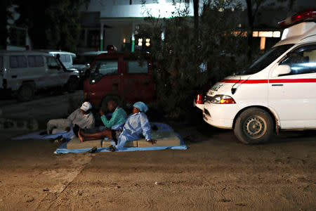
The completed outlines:
[[[110,100],[107,101],[107,110],[112,112],[112,117],[110,120],[107,120],[107,117],[104,115],[102,108],[99,110],[103,126],[93,128],[93,129],[84,129],[86,134],[94,134],[97,132],[102,132],[105,129],[111,129],[113,126],[123,124],[126,121],[127,114],[123,108],[120,108],[117,104],[117,101]]]

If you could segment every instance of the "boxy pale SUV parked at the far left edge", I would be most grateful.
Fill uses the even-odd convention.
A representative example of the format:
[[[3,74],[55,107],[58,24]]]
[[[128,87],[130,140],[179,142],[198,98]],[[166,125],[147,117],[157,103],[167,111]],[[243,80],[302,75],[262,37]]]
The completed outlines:
[[[0,51],[0,89],[19,101],[32,100],[37,89],[77,89],[79,74],[67,71],[58,58],[42,51]]]

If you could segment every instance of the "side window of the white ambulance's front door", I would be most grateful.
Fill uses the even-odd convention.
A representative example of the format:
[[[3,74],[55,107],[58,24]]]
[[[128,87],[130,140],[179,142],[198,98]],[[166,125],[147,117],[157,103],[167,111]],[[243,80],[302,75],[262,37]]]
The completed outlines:
[[[316,45],[303,46],[288,53],[280,64],[291,67],[288,75],[316,72]]]

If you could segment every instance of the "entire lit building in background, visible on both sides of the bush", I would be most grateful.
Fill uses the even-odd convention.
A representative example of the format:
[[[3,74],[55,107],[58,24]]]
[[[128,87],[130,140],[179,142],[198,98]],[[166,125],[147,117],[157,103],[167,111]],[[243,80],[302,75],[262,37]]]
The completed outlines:
[[[189,16],[193,16],[192,1],[180,2],[174,4],[173,0],[91,0],[87,7],[81,7],[81,36],[84,43],[79,46],[79,51],[104,51],[108,45],[116,46],[119,51],[134,51],[138,46],[135,37],[140,25],[144,23],[144,18],[148,16],[148,11],[155,18],[170,18],[177,8],[187,7]],[[199,2],[202,6],[203,1]],[[244,1],[241,2],[244,4]],[[282,29],[277,23],[310,6],[312,5],[306,0],[294,1],[294,6],[289,10],[287,2],[271,6],[267,1],[262,5],[261,13],[256,14],[258,17],[254,22],[254,44],[260,49],[273,46],[282,35]],[[246,30],[247,26],[248,19],[244,9],[241,31]],[[140,41],[143,41],[143,45],[147,44],[146,39]]]

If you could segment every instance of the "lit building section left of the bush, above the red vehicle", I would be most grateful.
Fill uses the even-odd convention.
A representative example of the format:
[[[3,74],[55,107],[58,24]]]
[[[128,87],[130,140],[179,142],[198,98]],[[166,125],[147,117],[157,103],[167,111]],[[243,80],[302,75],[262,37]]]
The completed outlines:
[[[193,15],[191,1],[173,4],[172,0],[91,0],[88,7],[81,8],[84,45],[79,51],[103,51],[108,45],[119,51],[133,51],[135,35],[147,13],[155,18],[170,18],[179,7],[189,8],[189,15]]]

